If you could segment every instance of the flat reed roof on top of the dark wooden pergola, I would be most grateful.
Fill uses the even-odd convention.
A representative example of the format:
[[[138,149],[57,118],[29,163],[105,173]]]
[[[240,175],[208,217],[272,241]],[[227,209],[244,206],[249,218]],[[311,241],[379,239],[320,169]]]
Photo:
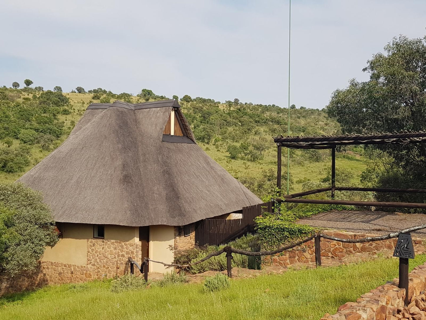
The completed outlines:
[[[372,145],[426,142],[426,131],[403,133],[344,134],[340,136],[273,137],[274,142],[292,149],[330,149],[336,145]]]

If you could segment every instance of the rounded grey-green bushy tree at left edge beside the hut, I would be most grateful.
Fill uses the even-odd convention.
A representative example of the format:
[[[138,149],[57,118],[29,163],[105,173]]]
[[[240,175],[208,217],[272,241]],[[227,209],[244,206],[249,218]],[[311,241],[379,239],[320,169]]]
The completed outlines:
[[[0,183],[0,275],[34,271],[46,246],[58,241],[55,221],[40,192]]]

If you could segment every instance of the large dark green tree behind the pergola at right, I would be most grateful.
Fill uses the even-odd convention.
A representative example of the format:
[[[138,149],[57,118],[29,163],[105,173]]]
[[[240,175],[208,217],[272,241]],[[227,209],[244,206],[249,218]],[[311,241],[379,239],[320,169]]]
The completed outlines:
[[[368,81],[353,79],[347,88],[334,91],[327,111],[337,119],[343,132],[425,130],[426,36],[393,38],[385,52],[367,61],[363,71],[370,74]],[[388,168],[381,171],[376,186],[423,187],[426,143],[376,145],[375,148],[393,158],[386,164]],[[376,195],[378,200],[385,197],[386,201],[426,201],[425,195],[418,194]]]

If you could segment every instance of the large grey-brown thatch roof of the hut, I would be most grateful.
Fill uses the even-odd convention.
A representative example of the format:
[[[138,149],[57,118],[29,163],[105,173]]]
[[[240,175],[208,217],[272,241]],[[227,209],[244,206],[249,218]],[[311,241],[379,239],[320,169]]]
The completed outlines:
[[[19,181],[43,192],[58,222],[176,226],[262,203],[195,143],[189,126],[185,141],[162,141],[173,107],[92,104]]]

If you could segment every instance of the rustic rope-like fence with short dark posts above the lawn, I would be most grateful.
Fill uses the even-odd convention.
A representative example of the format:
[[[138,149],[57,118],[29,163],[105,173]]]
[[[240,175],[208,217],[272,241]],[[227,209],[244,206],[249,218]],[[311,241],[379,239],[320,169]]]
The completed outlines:
[[[193,265],[198,265],[199,263],[204,262],[204,261],[210,259],[213,256],[219,256],[222,253],[226,253],[227,273],[228,273],[228,276],[230,278],[232,278],[232,270],[231,270],[232,269],[231,259],[233,259],[232,253],[242,254],[242,255],[245,255],[245,256],[273,256],[277,253],[281,253],[285,250],[292,249],[294,247],[297,247],[301,244],[304,244],[305,242],[308,242],[308,241],[314,239],[315,261],[316,261],[316,265],[320,266],[321,265],[321,255],[320,255],[320,251],[321,251],[320,239],[321,238],[345,242],[345,243],[364,243],[364,242],[381,241],[381,240],[397,238],[400,235],[400,233],[412,233],[414,231],[418,231],[418,230],[422,230],[422,229],[426,229],[426,224],[422,224],[422,225],[416,226],[416,227],[410,227],[410,228],[400,230],[400,231],[397,231],[397,232],[392,232],[392,233],[389,233],[387,235],[376,236],[376,237],[365,237],[365,238],[361,238],[361,239],[340,239],[340,238],[336,238],[336,237],[333,237],[333,236],[328,236],[324,233],[314,233],[306,239],[300,240],[300,241],[295,242],[293,244],[289,244],[287,246],[280,247],[276,250],[271,250],[271,251],[251,252],[251,251],[240,250],[240,249],[236,249],[236,248],[227,246],[227,247],[222,248],[219,251],[212,252],[212,253],[208,254],[203,259],[200,259],[196,262],[189,263],[187,265],[170,264],[170,263],[165,263],[165,262],[161,262],[161,261],[155,261],[155,260],[152,260],[150,258],[144,258],[142,265],[139,266],[138,263],[134,259],[132,259],[132,257],[129,257],[128,260],[129,260],[129,263],[130,263],[130,273],[132,273],[132,274],[134,273],[134,266],[136,266],[141,271],[141,273],[144,273],[145,281],[148,281],[148,263],[149,262],[160,263],[160,264],[165,265],[167,267],[188,268],[188,267],[193,266]],[[408,267],[408,265],[407,265],[407,267]]]

